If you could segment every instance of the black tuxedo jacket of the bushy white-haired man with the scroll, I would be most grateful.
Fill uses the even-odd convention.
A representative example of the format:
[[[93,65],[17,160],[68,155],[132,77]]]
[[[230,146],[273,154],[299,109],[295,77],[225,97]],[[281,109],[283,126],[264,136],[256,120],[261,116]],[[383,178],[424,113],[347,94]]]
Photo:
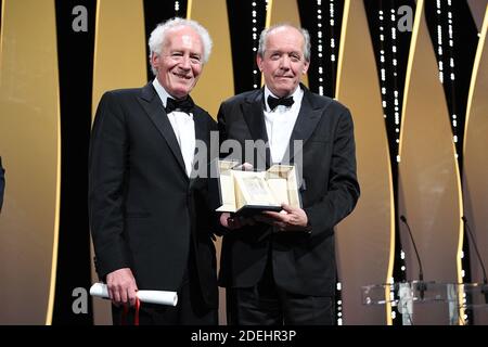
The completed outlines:
[[[193,118],[195,138],[208,144],[215,120],[197,106]],[[130,268],[139,290],[177,291],[192,246],[204,299],[216,307],[214,214],[206,207],[207,191],[206,179],[187,176],[152,83],[102,97],[89,165],[90,224],[100,278]]]

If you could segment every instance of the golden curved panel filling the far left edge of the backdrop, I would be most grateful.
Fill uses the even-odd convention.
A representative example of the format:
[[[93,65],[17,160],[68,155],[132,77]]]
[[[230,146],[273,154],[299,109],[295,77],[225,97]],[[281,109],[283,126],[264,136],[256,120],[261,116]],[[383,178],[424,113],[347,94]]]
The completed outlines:
[[[0,149],[0,324],[51,324],[60,207],[54,1],[3,0]]]

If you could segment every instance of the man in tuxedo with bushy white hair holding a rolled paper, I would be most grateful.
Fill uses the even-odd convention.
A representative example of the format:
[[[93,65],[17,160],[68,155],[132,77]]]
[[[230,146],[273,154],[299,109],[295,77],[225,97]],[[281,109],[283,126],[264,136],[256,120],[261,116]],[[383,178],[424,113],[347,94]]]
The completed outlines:
[[[97,111],[89,165],[95,268],[114,324],[136,317],[140,324],[216,324],[214,213],[206,177],[193,167],[195,147],[209,149],[217,125],[189,95],[211,39],[198,23],[174,18],[154,29],[149,46],[155,79],[106,92]],[[138,290],[176,291],[178,305],[127,312]]]

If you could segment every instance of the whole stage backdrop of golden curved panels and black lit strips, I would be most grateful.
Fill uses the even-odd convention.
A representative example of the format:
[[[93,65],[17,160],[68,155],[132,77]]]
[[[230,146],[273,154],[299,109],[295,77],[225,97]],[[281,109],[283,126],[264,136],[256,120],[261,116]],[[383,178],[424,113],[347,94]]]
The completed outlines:
[[[98,281],[87,209],[92,116],[106,90],[153,78],[146,41],[174,16],[201,22],[214,38],[192,94],[214,117],[222,100],[261,87],[265,27],[309,30],[305,82],[350,108],[362,191],[336,229],[338,324],[401,323],[395,305],[361,297],[363,285],[419,277],[400,215],[425,280],[480,282],[473,248],[488,261],[487,2],[1,0],[0,324],[111,323],[108,303],[87,295]],[[224,324],[223,291],[220,299]],[[446,306],[414,310],[415,324],[447,322]],[[459,322],[487,323],[471,310]]]

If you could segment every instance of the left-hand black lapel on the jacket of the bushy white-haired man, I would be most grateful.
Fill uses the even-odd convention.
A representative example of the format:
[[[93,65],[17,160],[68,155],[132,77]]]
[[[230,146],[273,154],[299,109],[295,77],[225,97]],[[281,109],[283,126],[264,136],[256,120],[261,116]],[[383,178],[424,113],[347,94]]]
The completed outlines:
[[[181,154],[178,140],[176,139],[175,131],[172,130],[171,124],[169,123],[168,116],[163,107],[163,102],[157,97],[157,93],[151,82],[142,88],[141,97],[138,99],[150,119],[154,123],[157,130],[159,130],[160,134],[171,149],[175,158],[177,159],[180,168],[183,170],[184,177],[188,178],[183,156]]]

